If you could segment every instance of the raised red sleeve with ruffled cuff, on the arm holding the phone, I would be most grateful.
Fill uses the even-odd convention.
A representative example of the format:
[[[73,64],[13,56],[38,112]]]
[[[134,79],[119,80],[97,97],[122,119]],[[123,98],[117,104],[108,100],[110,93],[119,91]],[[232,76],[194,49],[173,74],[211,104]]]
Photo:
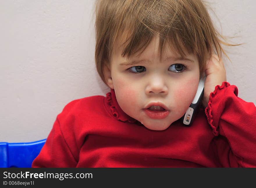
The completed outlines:
[[[210,94],[205,114],[213,129],[214,152],[223,167],[256,167],[256,107],[223,82]]]

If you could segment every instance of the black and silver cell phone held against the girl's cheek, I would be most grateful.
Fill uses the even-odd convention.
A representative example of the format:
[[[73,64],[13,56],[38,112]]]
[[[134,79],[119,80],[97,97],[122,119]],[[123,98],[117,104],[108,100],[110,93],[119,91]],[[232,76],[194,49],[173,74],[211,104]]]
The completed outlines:
[[[182,118],[180,118],[180,121],[184,126],[191,126],[196,115],[198,114],[198,112],[200,110],[200,107],[202,104],[202,99],[204,96],[205,78],[206,78],[205,75],[203,75],[202,78],[199,80],[198,89],[195,94],[195,97],[194,97],[191,105],[189,106],[188,110],[184,114],[184,116],[182,116]]]

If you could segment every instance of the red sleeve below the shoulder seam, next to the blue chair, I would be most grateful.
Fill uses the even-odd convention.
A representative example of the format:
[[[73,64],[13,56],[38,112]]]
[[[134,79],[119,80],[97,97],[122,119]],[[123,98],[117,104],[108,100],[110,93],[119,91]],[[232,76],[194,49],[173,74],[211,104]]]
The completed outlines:
[[[76,167],[77,161],[67,145],[58,118],[48,135],[45,145],[32,163],[32,167]]]

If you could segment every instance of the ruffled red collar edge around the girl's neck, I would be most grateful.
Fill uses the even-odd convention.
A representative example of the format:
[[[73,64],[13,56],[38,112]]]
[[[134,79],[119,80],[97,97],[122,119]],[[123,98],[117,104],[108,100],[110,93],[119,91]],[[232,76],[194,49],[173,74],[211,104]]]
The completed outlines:
[[[129,122],[129,123],[140,123],[136,119],[130,117],[127,115],[119,106],[116,96],[115,96],[115,90],[111,89],[111,92],[106,94],[106,103],[107,108],[110,109],[111,114],[119,121],[122,122]],[[108,110],[109,110],[108,109]]]

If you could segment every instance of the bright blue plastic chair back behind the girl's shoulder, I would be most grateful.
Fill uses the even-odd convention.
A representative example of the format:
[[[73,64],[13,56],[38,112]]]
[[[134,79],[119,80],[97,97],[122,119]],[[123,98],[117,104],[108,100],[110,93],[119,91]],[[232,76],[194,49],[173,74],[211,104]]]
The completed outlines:
[[[0,167],[30,168],[45,141],[46,139],[25,143],[0,142]]]

